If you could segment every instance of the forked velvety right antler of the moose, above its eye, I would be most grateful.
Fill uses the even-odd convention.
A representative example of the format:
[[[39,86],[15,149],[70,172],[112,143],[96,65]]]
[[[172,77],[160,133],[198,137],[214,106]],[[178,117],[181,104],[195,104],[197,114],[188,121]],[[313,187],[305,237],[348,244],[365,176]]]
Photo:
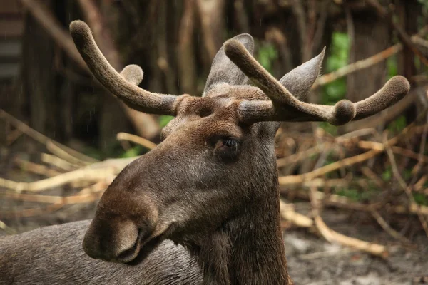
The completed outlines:
[[[242,43],[235,40],[226,41],[225,53],[270,98],[270,101],[243,100],[240,103],[240,120],[248,123],[273,120],[326,121],[332,125],[344,125],[350,120],[367,118],[397,103],[410,88],[406,78],[394,76],[377,93],[360,102],[340,100],[334,106],[310,104],[297,100],[260,66]]]

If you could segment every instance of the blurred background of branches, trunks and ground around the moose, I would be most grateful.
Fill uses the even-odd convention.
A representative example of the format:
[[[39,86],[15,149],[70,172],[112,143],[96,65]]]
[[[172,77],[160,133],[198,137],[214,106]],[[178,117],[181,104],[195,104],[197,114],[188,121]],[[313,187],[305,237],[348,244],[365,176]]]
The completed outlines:
[[[201,95],[223,42],[250,33],[275,78],[327,47],[312,103],[362,100],[395,75],[412,86],[392,108],[339,128],[282,124],[296,284],[427,283],[427,16],[427,0],[0,0],[0,234],[91,218],[170,120],[97,83],[71,21],[91,26],[116,70],[136,63],[142,88],[177,95]]]

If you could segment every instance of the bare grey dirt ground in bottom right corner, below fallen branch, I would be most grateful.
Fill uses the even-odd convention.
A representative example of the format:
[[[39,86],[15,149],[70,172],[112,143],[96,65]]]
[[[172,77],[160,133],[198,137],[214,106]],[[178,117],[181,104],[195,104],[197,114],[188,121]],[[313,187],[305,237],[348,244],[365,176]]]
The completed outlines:
[[[413,282],[416,277],[428,275],[427,239],[418,242],[418,249],[395,247],[383,260],[300,231],[285,234],[287,263],[296,285],[418,284]]]

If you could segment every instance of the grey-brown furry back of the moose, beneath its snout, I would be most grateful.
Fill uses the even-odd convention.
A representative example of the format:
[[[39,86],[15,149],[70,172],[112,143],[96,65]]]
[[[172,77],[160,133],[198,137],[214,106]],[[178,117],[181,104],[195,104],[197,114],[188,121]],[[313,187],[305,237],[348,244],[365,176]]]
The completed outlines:
[[[195,259],[166,240],[140,264],[91,259],[82,239],[91,221],[43,227],[0,238],[1,285],[200,284]]]

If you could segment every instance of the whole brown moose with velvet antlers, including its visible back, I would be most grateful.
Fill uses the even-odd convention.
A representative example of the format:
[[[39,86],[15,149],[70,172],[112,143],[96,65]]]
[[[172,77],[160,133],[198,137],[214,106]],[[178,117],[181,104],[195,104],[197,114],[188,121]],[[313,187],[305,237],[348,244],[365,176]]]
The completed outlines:
[[[394,76],[357,103],[306,103],[325,49],[278,81],[253,58],[253,38],[241,34],[218,51],[201,97],[151,93],[138,87],[138,66],[111,67],[83,21],[70,31],[111,93],[141,112],[175,118],[162,142],[108,186],[91,221],[2,239],[0,283],[292,284],[274,151],[280,123],[344,125],[397,103],[410,88]]]

